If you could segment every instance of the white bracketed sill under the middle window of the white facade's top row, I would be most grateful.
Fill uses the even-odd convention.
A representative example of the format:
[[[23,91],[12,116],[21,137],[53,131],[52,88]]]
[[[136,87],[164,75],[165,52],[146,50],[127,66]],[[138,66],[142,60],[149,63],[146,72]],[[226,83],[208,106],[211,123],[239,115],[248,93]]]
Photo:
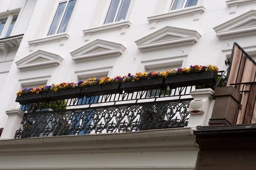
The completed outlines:
[[[113,30],[113,29],[121,29],[120,34],[125,34],[125,30],[123,30],[123,29],[128,28],[129,26],[131,26],[131,22],[129,22],[129,21],[120,21],[120,22],[105,24],[103,26],[99,26],[99,27],[96,27],[96,28],[86,29],[86,30],[83,30],[82,33],[85,36],[87,36],[85,41],[88,41],[91,34],[100,33],[100,32],[103,32],[103,31],[108,31],[108,30]]]

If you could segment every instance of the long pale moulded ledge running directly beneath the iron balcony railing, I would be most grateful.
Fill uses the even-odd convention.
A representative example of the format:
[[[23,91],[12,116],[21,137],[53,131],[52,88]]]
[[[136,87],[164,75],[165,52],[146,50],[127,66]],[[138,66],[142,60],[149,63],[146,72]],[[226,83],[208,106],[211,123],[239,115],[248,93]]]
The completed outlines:
[[[188,149],[197,151],[189,127],[139,132],[0,140],[1,155],[104,153]]]

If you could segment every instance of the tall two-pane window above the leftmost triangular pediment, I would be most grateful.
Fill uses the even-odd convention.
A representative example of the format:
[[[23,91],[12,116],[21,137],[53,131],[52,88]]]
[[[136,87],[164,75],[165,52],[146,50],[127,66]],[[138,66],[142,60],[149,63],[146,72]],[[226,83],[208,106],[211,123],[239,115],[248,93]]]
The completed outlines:
[[[66,0],[59,3],[52,25],[47,35],[64,33],[72,15],[76,0]]]

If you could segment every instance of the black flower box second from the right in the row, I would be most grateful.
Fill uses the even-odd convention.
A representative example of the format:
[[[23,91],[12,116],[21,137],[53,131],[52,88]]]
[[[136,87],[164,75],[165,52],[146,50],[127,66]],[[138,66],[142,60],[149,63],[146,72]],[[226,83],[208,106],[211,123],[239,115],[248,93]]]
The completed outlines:
[[[138,81],[126,81],[122,82],[121,89],[125,90],[128,93],[137,92],[137,91],[146,91],[154,89],[164,89],[165,78],[164,77],[153,77],[140,79]]]

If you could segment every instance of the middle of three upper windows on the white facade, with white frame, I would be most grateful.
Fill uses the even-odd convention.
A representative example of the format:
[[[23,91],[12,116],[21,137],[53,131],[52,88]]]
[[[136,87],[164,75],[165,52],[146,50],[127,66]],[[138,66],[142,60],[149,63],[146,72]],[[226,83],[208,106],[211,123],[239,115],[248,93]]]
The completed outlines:
[[[125,20],[131,0],[111,0],[104,24]]]

